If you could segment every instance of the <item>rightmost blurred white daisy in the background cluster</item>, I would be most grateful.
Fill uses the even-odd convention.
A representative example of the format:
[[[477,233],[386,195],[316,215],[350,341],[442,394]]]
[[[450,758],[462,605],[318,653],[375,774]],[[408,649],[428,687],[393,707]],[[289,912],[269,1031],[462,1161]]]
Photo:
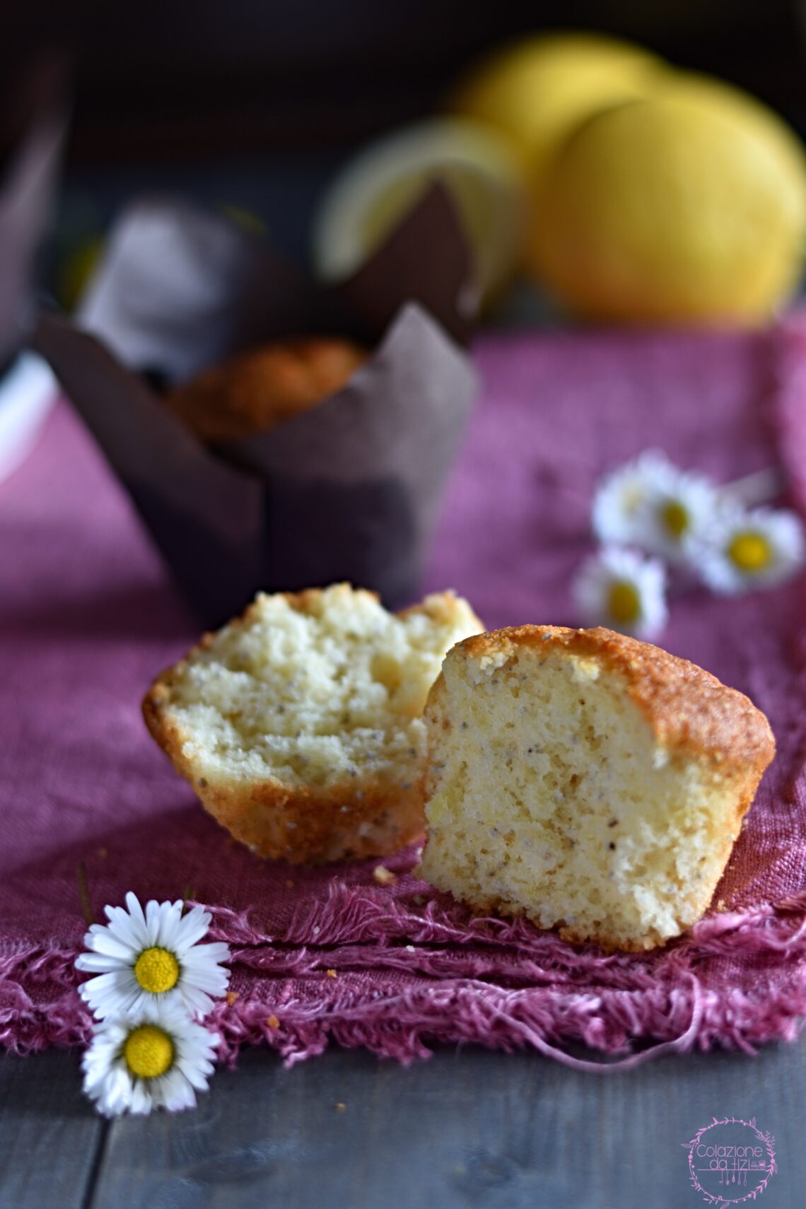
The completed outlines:
[[[804,526],[794,513],[724,509],[696,549],[696,569],[714,592],[773,588],[804,565]]]

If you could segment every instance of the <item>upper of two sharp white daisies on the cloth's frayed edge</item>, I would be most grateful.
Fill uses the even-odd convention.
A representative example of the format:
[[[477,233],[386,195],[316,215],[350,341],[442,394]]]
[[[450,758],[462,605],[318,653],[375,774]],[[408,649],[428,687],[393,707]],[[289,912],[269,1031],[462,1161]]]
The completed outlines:
[[[106,907],[109,924],[93,924],[85,936],[91,950],[76,959],[76,968],[98,977],[79,990],[93,1013],[103,1019],[162,1003],[205,1016],[213,997],[224,995],[230,971],[226,944],[198,944],[210,926],[210,915],[193,907],[182,915],[181,902],[146,903],[145,913],[133,893],[123,907]]]

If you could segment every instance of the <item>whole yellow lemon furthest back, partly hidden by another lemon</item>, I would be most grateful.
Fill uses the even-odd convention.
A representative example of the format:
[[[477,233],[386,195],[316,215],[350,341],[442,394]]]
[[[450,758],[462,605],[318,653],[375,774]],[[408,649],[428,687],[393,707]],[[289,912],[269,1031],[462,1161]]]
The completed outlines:
[[[534,183],[580,121],[645,96],[663,66],[638,46],[597,34],[534,36],[471,70],[451,108],[504,134]]]

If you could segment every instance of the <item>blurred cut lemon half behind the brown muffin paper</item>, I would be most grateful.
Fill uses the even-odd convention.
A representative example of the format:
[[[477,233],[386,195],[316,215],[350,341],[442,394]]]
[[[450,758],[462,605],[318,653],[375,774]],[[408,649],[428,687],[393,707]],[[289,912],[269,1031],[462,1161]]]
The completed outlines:
[[[318,274],[337,280],[360,268],[434,181],[445,185],[457,204],[482,297],[494,293],[520,249],[521,178],[498,135],[453,118],[406,127],[347,163],[314,221]]]

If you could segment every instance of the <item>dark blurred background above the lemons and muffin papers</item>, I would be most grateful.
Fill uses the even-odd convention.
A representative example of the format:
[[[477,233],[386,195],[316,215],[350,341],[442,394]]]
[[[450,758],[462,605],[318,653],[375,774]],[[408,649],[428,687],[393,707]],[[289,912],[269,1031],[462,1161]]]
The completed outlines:
[[[806,134],[806,0],[5,0],[0,74],[70,52],[59,238],[133,191],[247,209],[303,254],[324,181],[367,135],[439,106],[457,74],[534,30],[595,29],[733,81]]]

